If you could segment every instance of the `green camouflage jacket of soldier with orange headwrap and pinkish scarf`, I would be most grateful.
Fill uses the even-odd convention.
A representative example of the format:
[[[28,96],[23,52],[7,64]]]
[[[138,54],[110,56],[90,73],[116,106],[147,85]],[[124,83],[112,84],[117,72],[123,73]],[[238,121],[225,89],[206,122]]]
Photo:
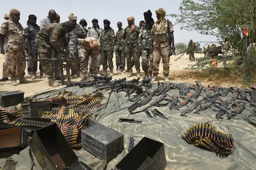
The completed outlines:
[[[129,26],[124,28],[123,39],[125,40],[125,44],[133,44],[134,46],[138,46],[139,34],[140,34],[140,27],[138,26],[135,26],[132,32]]]

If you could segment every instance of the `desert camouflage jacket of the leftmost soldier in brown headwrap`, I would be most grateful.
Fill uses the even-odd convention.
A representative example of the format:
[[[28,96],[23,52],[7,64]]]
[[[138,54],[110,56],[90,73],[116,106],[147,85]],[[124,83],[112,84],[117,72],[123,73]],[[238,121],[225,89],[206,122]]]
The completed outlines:
[[[0,34],[4,37],[4,50],[24,51],[24,37],[22,25],[12,20],[3,22],[0,28]]]

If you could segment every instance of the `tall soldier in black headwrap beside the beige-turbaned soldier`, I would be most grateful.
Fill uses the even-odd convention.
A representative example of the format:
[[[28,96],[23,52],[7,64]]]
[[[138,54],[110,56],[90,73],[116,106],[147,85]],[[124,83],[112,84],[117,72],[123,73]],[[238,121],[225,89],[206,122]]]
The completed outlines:
[[[141,57],[141,66],[142,70],[145,73],[146,78],[152,78],[153,72],[153,57],[150,54],[150,47],[151,47],[151,32],[152,25],[154,24],[154,19],[152,18],[152,12],[148,10],[144,12],[144,22],[140,28],[140,35],[139,35],[139,46],[140,51],[142,52]],[[149,62],[149,64],[148,64]]]

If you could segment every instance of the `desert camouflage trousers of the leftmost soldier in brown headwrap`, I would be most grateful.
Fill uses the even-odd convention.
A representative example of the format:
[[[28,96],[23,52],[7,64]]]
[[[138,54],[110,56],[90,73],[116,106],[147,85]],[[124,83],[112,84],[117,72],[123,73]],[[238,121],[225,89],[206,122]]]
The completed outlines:
[[[8,65],[8,74],[10,77],[25,75],[26,61],[20,61],[20,59],[25,58],[24,51],[6,50],[4,62]]]

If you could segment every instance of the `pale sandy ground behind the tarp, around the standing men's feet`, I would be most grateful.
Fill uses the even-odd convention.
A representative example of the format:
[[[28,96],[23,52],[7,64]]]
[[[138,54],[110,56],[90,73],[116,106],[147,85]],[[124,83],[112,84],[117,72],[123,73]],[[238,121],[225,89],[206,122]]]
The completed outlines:
[[[177,57],[178,56],[171,56],[171,58],[170,58],[170,76],[169,76],[170,80],[172,82],[187,82],[188,81],[187,79],[174,78],[175,77],[174,75],[178,74],[179,72],[182,72],[182,70],[184,68],[188,67],[188,64],[194,64],[195,62],[189,62],[188,55],[184,55],[178,61],[175,61]],[[195,57],[196,58],[203,57],[203,54],[195,54]],[[1,76],[1,78],[2,78],[2,62],[3,62],[3,60],[4,60],[4,55],[0,54],[0,76]],[[115,57],[113,58],[113,61],[114,61],[114,65],[115,65]],[[163,68],[163,65],[161,62],[160,63],[160,74],[158,75],[158,80],[160,80],[161,82],[164,80],[163,74],[162,74],[162,68]],[[140,69],[142,70],[142,68],[140,68]],[[100,70],[102,71],[102,66],[101,66]],[[108,70],[108,73],[109,73],[109,70]],[[135,68],[133,69],[133,73],[134,73],[133,74],[134,76],[127,78],[127,80],[136,78]],[[143,71],[141,71],[141,75],[143,78],[143,76],[144,76]],[[39,70],[37,72],[37,76],[39,77]],[[30,80],[31,81],[30,83],[18,84],[18,86],[12,86],[11,82],[10,82],[10,78],[6,82],[0,82],[0,92],[21,90],[21,91],[25,92],[24,96],[30,96],[30,95],[36,94],[38,92],[64,87],[64,86],[49,87],[47,78],[37,78],[35,80],[31,80],[31,77],[32,76],[28,75],[27,70],[26,70],[25,78],[27,80]],[[126,77],[126,74],[116,71],[116,67],[114,66],[114,76],[113,76],[112,80],[124,78],[124,77]],[[90,77],[89,77],[89,79],[90,79]],[[73,79],[71,78],[71,82],[78,82],[78,81],[80,81],[80,78],[73,78]],[[189,81],[193,81],[193,80],[189,80]],[[67,80],[65,81],[65,83],[67,83]]]

